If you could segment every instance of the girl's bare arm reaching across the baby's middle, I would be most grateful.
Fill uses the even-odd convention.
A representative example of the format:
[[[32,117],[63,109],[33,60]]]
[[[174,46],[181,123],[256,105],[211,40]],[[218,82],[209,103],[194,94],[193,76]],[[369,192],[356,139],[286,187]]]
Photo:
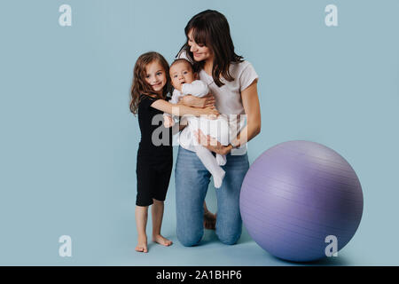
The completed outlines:
[[[197,108],[197,107],[191,107],[191,106],[184,106],[182,104],[171,104],[168,101],[163,100],[163,99],[155,100],[151,106],[160,110],[161,112],[178,115],[178,116],[189,115],[189,114],[194,115],[194,116],[200,116],[202,114],[216,115],[216,116],[219,115],[219,113],[215,109],[215,106],[207,106],[205,108]]]

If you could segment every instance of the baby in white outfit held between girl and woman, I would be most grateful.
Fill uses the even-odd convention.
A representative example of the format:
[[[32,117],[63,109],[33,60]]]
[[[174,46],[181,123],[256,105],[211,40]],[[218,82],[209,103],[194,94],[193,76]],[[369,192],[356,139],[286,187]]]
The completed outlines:
[[[208,94],[209,89],[206,83],[197,79],[197,73],[193,72],[192,64],[186,59],[176,59],[169,69],[172,85],[175,88],[172,99],[169,100],[172,104],[177,104],[179,99],[186,95],[195,97],[204,97]],[[164,126],[172,127],[175,124],[174,118],[170,114],[163,114]],[[214,156],[206,147],[200,146],[196,139],[194,139],[194,131],[201,130],[205,135],[210,135],[219,141],[222,145],[229,145],[229,122],[227,117],[219,115],[217,119],[207,119],[205,117],[184,116],[182,123],[188,122],[188,128],[191,138],[180,137],[180,145],[189,150],[194,150],[204,164],[207,170],[214,177],[214,184],[219,188],[223,183],[224,170],[221,166],[226,163],[226,156],[216,154]],[[184,143],[183,141],[189,141]],[[187,145],[189,144],[189,145]]]

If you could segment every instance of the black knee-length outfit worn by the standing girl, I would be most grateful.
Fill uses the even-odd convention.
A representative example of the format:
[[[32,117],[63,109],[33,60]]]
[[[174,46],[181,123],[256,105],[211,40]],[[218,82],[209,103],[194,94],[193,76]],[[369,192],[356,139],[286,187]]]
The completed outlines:
[[[141,95],[138,124],[141,140],[137,150],[137,206],[153,199],[165,201],[173,167],[172,128],[163,126],[163,112],[151,106],[154,99]]]

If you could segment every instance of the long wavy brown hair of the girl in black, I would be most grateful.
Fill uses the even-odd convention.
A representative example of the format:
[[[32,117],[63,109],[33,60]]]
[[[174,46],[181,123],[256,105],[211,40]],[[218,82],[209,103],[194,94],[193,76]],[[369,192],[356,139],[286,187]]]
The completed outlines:
[[[167,76],[167,83],[163,87],[162,94],[157,94],[153,91],[153,88],[145,82],[146,71],[145,67],[152,63],[154,60],[158,60],[160,66],[163,67],[165,75]],[[170,76],[169,76],[169,65],[168,61],[155,51],[146,52],[137,59],[135,67],[133,69],[133,82],[130,88],[130,111],[133,114],[137,114],[138,104],[140,103],[140,96],[146,95],[155,99],[167,99],[168,93],[171,90]]]

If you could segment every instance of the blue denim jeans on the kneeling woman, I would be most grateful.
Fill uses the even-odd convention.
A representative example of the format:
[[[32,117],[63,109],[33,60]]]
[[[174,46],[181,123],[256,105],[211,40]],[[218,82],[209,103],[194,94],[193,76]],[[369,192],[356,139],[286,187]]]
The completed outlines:
[[[226,172],[223,184],[216,189],[217,219],[216,235],[225,244],[239,241],[242,220],[239,213],[239,193],[249,169],[248,155],[226,155],[227,162],[222,167]],[[194,246],[204,234],[203,203],[207,195],[210,173],[200,162],[197,154],[179,146],[177,154],[176,215],[177,239],[184,246]]]

